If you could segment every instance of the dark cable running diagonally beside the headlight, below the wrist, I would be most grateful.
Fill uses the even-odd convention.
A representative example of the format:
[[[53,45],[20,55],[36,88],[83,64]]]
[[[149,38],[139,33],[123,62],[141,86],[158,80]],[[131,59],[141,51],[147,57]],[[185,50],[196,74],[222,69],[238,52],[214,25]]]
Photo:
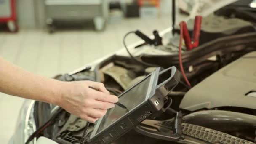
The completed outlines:
[[[48,128],[50,125],[52,125],[55,122],[56,117],[62,110],[64,109],[59,107],[59,109],[56,110],[56,112],[50,117],[50,119],[46,123],[40,126],[34,133],[32,133],[31,136],[29,136],[25,144],[29,144],[29,142],[32,141],[35,137],[37,137],[43,130],[45,130],[45,128]]]

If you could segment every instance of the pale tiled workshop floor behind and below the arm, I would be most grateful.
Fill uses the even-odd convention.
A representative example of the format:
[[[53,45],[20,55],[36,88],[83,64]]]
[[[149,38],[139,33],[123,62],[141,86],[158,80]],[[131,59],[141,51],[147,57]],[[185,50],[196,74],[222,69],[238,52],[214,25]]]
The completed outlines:
[[[114,19],[104,32],[92,29],[57,30],[21,29],[17,34],[0,32],[0,56],[14,64],[45,77],[70,72],[108,53],[123,48],[126,32],[140,29],[151,35],[171,26],[171,16],[157,19]],[[139,40],[130,36],[128,42]],[[0,93],[0,143],[6,144],[24,99]]]

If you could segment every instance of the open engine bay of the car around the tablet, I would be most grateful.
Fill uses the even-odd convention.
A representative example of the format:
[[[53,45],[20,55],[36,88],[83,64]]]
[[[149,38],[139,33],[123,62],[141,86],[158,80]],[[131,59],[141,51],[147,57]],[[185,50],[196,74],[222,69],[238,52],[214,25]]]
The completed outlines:
[[[219,23],[233,24],[233,27],[219,28],[216,21],[202,23],[200,45],[190,51],[182,51],[184,77],[168,94],[172,103],[170,109],[155,119],[144,120],[140,128],[165,133],[182,133],[177,141],[157,139],[149,133],[141,134],[140,128],[128,132],[113,144],[253,144],[256,142],[256,29],[251,21],[215,17]],[[233,22],[232,22],[233,21]],[[188,22],[188,27],[190,22]],[[209,24],[210,23],[210,24]],[[190,29],[190,28],[189,28]],[[219,31],[215,31],[218,29]],[[179,33],[180,29],[175,29]],[[190,33],[192,33],[189,30]],[[179,69],[177,37],[154,48],[142,46],[134,54],[154,66],[138,64],[127,54],[115,54],[93,67],[70,74],[54,77],[62,81],[93,80],[104,83],[109,92],[118,96],[134,84],[154,72],[157,67]],[[180,70],[180,69],[179,69]],[[225,98],[225,99],[224,99]],[[132,102],[132,101],[129,101]],[[52,117],[55,106],[37,101],[35,117],[37,128]],[[181,116],[176,112],[181,112]],[[44,116],[40,116],[44,115]],[[176,131],[177,121],[181,125]],[[217,121],[219,120],[219,121]],[[86,121],[65,110],[58,111],[54,123],[44,129],[41,136],[60,144],[79,144]],[[93,130],[89,126],[89,134]],[[136,141],[135,141],[136,140]]]

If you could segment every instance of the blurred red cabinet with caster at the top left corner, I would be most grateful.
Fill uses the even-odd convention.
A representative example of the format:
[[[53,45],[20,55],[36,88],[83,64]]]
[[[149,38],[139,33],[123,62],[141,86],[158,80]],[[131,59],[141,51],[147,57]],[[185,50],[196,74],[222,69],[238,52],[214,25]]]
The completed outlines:
[[[0,0],[0,23],[6,23],[11,32],[18,31],[15,0]]]

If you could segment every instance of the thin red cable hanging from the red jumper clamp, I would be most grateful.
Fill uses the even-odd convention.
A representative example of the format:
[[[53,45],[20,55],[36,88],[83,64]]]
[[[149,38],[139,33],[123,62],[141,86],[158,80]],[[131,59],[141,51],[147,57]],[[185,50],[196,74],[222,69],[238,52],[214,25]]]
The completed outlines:
[[[183,39],[183,25],[184,25],[184,21],[181,21],[179,23],[179,27],[180,27],[180,39],[179,39],[179,67],[180,67],[180,70],[181,70],[181,74],[182,76],[184,77],[184,80],[186,81],[187,85],[189,86],[189,88],[191,88],[191,85],[189,83],[189,80],[187,79],[187,76],[184,72],[184,69],[183,69],[183,65],[182,65],[182,57],[181,57],[181,47],[182,47],[182,39]]]

